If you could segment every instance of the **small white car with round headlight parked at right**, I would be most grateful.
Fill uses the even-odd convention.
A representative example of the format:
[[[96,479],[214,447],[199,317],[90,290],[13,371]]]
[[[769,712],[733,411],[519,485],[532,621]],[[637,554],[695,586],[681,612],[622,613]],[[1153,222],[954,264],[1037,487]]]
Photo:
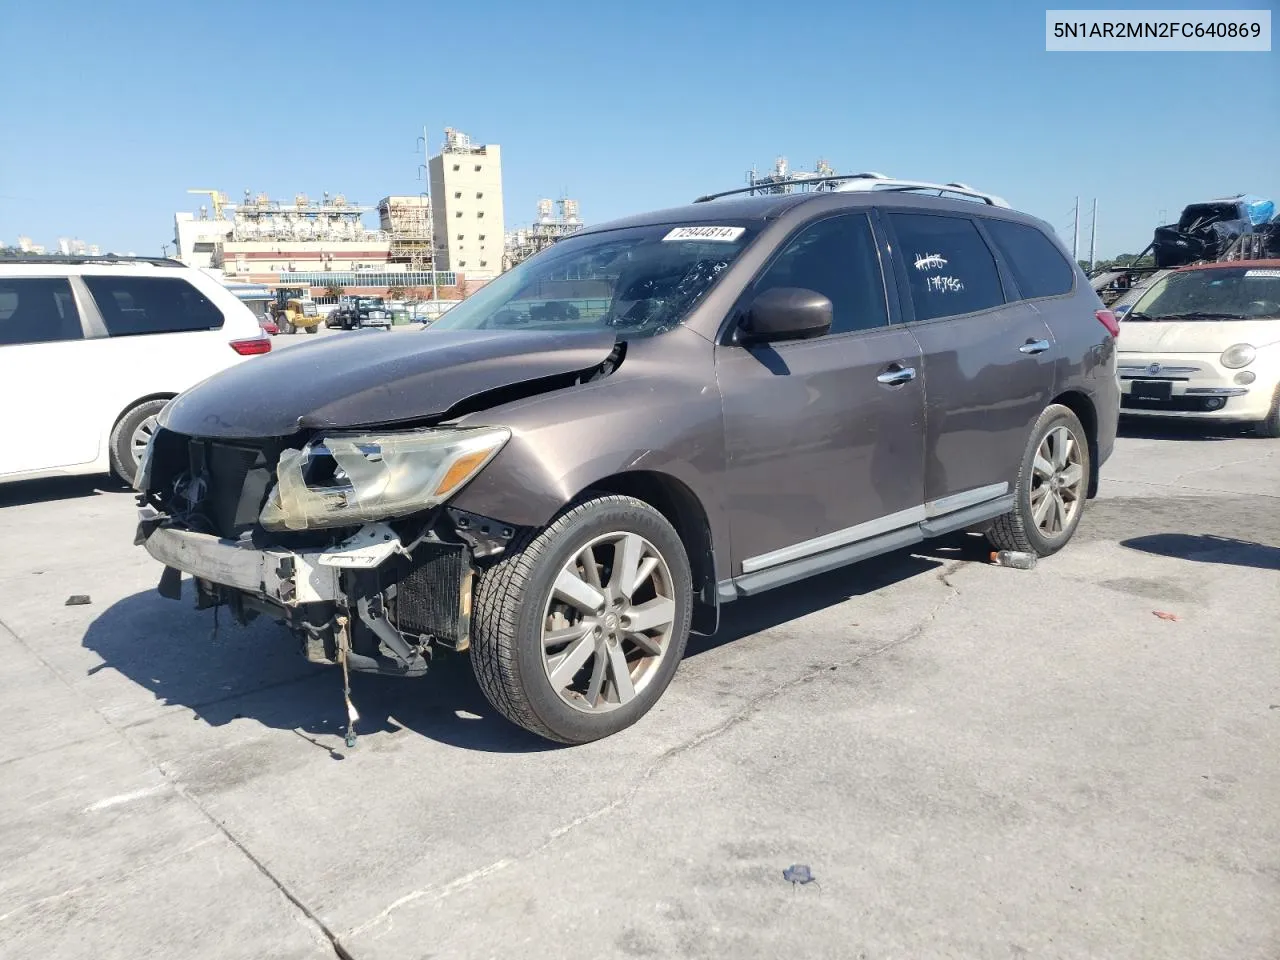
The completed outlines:
[[[1280,260],[1188,266],[1120,323],[1126,416],[1252,424],[1280,436]]]

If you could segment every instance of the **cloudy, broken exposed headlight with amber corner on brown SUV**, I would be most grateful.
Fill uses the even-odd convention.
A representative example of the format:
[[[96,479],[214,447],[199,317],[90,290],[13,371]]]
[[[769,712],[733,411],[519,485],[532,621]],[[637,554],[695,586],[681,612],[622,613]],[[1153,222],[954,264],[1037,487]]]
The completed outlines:
[[[326,434],[285,451],[259,517],[307,530],[403,517],[443,503],[511,438],[506,428]]]

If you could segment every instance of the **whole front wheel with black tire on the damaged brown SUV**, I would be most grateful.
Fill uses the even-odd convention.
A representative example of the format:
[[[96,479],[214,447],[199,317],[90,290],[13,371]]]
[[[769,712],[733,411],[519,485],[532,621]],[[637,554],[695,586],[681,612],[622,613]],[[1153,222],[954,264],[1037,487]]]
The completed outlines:
[[[613,572],[622,562],[623,544],[637,543],[643,547],[635,547],[632,570],[657,558],[652,572],[634,590],[634,607],[623,599],[612,605]],[[604,584],[596,591],[604,602],[596,614],[575,609],[554,590],[557,581],[564,582],[562,572],[571,585],[595,590],[586,567],[577,566],[589,548],[599,563],[595,580]],[[579,572],[568,573],[567,564]],[[588,605],[582,599],[579,603]],[[653,631],[640,635],[648,649],[630,639],[636,634],[625,631],[628,616],[641,611],[663,621],[657,639]],[[489,703],[507,719],[548,740],[585,744],[625,730],[658,701],[685,653],[691,616],[689,558],[666,517],[631,497],[589,497],[545,529],[518,535],[481,573],[471,621],[471,666]],[[570,618],[576,620],[571,623]],[[544,628],[553,625],[559,634],[572,635],[563,646],[545,644]],[[621,684],[614,663],[626,664]],[[570,678],[567,686],[553,684],[557,666],[564,671],[562,680]]]

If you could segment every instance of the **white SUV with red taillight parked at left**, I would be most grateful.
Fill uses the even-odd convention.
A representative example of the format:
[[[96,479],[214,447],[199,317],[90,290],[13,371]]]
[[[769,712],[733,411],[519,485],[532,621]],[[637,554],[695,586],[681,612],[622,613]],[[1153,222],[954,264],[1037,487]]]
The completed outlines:
[[[0,257],[0,483],[127,481],[164,404],[271,338],[177,260]]]

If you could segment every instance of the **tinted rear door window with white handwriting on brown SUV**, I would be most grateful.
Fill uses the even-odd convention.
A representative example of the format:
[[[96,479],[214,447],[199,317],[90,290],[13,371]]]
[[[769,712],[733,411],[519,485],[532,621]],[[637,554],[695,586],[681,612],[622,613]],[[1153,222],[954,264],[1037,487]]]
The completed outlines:
[[[888,214],[905,261],[916,320],[991,310],[1005,302],[996,259],[973,220]]]

